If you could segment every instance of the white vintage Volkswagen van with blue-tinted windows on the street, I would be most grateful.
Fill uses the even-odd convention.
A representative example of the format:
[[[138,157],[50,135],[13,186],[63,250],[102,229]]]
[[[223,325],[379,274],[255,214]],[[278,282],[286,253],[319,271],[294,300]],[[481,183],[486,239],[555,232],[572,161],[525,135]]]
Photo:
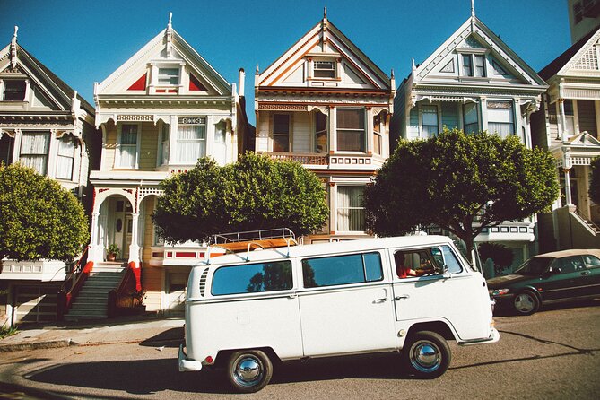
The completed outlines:
[[[366,352],[400,352],[407,372],[436,378],[447,340],[500,338],[482,274],[441,236],[207,257],[189,275],[185,334],[179,370],[225,367],[239,392],[265,387],[274,361]]]

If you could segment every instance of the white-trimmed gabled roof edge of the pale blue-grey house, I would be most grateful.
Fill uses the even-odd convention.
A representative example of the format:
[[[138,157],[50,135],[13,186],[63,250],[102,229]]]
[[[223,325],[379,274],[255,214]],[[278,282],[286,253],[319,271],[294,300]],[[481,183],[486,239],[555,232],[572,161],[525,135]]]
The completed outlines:
[[[459,48],[469,38],[474,38],[483,48],[489,49],[491,55],[499,59],[500,62],[505,63],[516,78],[524,84],[545,86],[546,83],[543,79],[535,74],[535,71],[521,57],[518,57],[517,53],[509,48],[500,37],[481,22],[474,13],[421,65],[413,67],[413,81],[420,81],[425,78],[434,67],[447,59],[448,54]]]

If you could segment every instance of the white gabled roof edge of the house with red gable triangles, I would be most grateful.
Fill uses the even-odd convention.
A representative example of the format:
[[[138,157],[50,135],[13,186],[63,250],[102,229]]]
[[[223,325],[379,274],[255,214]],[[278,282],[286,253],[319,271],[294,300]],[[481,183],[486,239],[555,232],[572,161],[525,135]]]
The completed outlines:
[[[168,49],[168,51],[167,51]],[[166,52],[166,55],[165,55]],[[187,66],[198,74],[199,78],[218,95],[231,95],[231,85],[196,49],[192,48],[171,24],[146,43],[134,56],[130,57],[115,72],[102,81],[95,94],[117,94],[119,88],[127,88],[145,74],[147,64],[155,61],[183,60]],[[138,76],[140,75],[140,76]]]

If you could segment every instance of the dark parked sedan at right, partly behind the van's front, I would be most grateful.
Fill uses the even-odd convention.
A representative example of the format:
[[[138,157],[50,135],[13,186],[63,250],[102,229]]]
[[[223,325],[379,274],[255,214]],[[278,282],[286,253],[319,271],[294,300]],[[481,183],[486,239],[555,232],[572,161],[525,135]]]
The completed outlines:
[[[600,249],[563,250],[529,258],[512,274],[488,281],[498,307],[521,315],[545,303],[600,295]]]

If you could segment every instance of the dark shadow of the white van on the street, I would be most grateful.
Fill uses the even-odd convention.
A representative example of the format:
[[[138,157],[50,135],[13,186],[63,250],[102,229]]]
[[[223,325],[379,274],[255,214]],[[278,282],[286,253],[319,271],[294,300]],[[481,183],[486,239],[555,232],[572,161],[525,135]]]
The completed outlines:
[[[143,376],[143,379],[140,377]],[[411,379],[397,353],[287,361],[274,365],[272,385],[343,378]],[[32,382],[63,387],[89,387],[151,395],[170,390],[188,393],[231,393],[224,370],[178,372],[177,360],[101,361],[55,365],[28,376]],[[68,389],[65,390],[65,394]]]

